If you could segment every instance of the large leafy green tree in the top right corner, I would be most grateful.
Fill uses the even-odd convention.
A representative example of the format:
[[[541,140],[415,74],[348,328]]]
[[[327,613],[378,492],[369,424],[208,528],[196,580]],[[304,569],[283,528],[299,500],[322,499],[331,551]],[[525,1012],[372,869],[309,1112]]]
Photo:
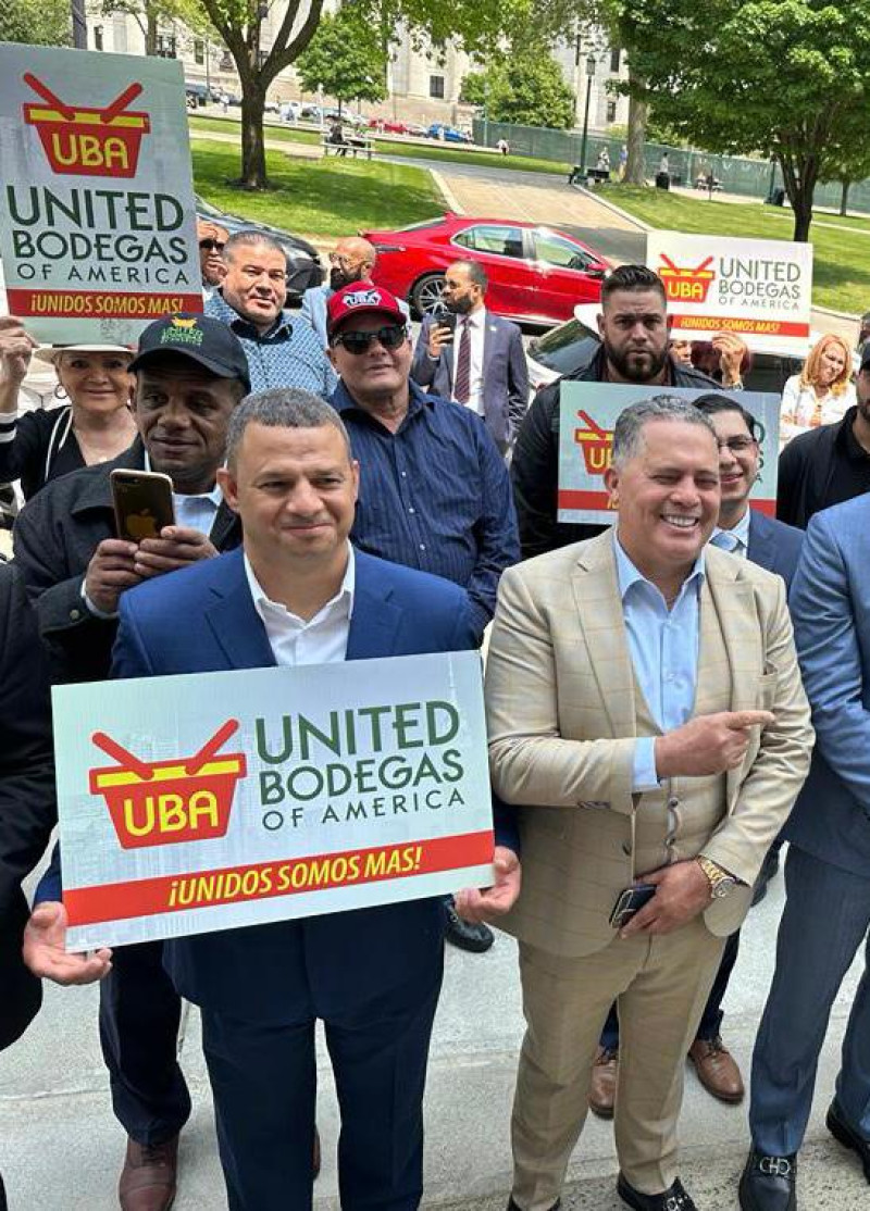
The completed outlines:
[[[646,0],[625,21],[635,93],[697,145],[775,156],[807,240],[817,182],[866,140],[870,0]]]

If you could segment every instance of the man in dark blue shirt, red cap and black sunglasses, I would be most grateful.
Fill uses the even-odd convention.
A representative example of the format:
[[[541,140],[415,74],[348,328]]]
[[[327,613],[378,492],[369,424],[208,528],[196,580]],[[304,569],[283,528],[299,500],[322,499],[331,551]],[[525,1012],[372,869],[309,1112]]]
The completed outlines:
[[[327,303],[332,404],[360,463],[350,538],[361,551],[462,585],[482,639],[502,573],[520,559],[504,460],[481,417],[411,381],[413,350],[397,299],[354,282]],[[447,905],[447,940],[486,951],[492,931]]]

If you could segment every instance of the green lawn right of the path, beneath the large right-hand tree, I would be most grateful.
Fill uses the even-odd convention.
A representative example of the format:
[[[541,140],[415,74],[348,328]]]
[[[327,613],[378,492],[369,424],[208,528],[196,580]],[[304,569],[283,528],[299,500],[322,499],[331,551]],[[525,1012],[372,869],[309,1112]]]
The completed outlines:
[[[790,240],[792,217],[775,207],[683,197],[659,189],[613,185],[605,196],[629,214],[665,231],[736,235],[760,240]],[[860,229],[862,219],[842,220],[819,214],[820,224],[842,223]],[[866,230],[870,224],[864,225]],[[813,303],[836,311],[860,314],[870,306],[870,240],[825,225],[811,231],[813,243]]]

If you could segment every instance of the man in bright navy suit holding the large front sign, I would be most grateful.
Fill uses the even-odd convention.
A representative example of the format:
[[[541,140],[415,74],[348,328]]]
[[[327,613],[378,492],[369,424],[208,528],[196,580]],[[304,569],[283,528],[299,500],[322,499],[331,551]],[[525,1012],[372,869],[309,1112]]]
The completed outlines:
[[[242,550],[125,593],[114,676],[476,647],[463,589],[350,546],[359,466],[322,400],[299,390],[250,396],[233,415],[218,475],[242,521]],[[515,844],[509,828],[505,839]],[[473,914],[516,899],[514,850],[497,844],[494,866],[494,886],[459,901]],[[41,911],[30,960],[46,971],[59,954],[63,909]],[[310,1211],[317,1017],[342,1107],[344,1211],[418,1207],[442,955],[437,899],[166,943],[176,987],[202,1010],[231,1211]]]

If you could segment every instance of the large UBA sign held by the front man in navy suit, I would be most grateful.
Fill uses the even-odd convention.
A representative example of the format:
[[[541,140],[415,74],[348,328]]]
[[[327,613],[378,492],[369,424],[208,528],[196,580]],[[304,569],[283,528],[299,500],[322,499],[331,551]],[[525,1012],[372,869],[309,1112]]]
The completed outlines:
[[[476,652],[53,690],[70,949],[492,882]]]

